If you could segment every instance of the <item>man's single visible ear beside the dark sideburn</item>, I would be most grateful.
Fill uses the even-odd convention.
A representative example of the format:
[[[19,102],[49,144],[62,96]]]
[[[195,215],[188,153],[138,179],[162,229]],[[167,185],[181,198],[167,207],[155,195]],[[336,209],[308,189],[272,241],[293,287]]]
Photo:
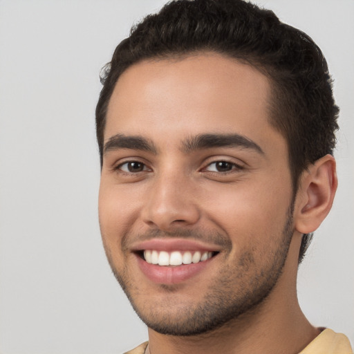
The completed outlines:
[[[330,211],[336,190],[335,159],[326,155],[301,175],[295,200],[295,229],[301,234],[314,232]]]

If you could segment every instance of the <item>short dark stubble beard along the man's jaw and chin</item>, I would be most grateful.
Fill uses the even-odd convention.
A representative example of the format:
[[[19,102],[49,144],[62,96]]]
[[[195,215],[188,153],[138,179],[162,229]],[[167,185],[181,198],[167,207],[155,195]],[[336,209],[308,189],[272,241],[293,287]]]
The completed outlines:
[[[282,237],[274,235],[272,252],[266,257],[268,262],[257,268],[254,250],[244,252],[236,265],[227,265],[212,281],[212,288],[198,304],[178,304],[174,301],[174,292],[178,295],[178,287],[163,286],[160,288],[171,295],[170,301],[150,306],[149,299],[145,306],[139,306],[136,297],[141,296],[134,291],[136,286],[127,276],[127,272],[118,273],[113,265],[111,254],[106,254],[115,278],[122,286],[133,309],[145,324],[158,333],[174,336],[202,335],[221,328],[241,315],[254,313],[272,292],[283,271],[288,257],[292,239],[293,203],[289,207]],[[277,243],[278,242],[278,243]],[[133,295],[134,294],[134,295]]]

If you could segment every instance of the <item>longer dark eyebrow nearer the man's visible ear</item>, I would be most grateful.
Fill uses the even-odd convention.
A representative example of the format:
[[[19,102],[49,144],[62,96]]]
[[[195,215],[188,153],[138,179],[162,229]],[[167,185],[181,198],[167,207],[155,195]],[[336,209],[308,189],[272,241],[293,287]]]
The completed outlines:
[[[251,149],[257,153],[264,154],[256,142],[239,134],[201,134],[187,138],[183,142],[183,152],[190,152],[212,147],[239,147],[241,149]]]

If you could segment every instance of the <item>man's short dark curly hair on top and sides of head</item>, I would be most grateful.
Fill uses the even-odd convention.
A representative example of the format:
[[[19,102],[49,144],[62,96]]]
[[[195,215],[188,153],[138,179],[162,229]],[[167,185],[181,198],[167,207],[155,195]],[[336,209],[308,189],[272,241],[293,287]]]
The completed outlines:
[[[272,84],[270,124],[288,142],[294,196],[309,164],[332,154],[338,107],[322,51],[304,32],[283,24],[270,10],[243,0],[177,0],[131,28],[101,72],[96,107],[97,142],[104,144],[106,110],[115,83],[132,64],[151,58],[220,53],[254,66]],[[299,262],[312,234],[303,236]]]

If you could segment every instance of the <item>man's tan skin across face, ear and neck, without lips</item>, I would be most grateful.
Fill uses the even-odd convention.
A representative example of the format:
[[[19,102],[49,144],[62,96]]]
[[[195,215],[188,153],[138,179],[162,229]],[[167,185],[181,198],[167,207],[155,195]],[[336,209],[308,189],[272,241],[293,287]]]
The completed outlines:
[[[286,140],[268,120],[270,90],[256,69],[212,53],[140,62],[115,86],[100,227],[113,272],[149,326],[153,354],[299,353],[319,334],[299,308],[297,259],[301,234],[332,204],[335,162],[325,156],[311,165],[294,198]],[[230,133],[261,151],[183,148],[201,134]],[[118,135],[152,147],[110,146]],[[131,161],[138,169],[129,171]],[[218,171],[218,161],[230,170]],[[196,239],[218,254],[191,279],[154,283],[138,266],[135,247],[145,239]],[[192,330],[198,307],[205,313],[222,299],[239,309],[226,324],[188,337],[159,333],[160,324]]]

